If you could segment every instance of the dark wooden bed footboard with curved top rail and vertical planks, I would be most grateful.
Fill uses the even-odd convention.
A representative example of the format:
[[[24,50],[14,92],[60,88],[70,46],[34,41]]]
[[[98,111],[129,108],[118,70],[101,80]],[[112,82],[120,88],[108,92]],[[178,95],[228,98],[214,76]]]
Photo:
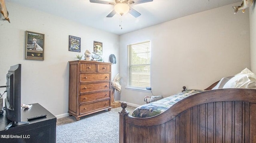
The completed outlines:
[[[185,98],[151,118],[122,103],[120,143],[256,143],[256,90],[218,89]]]

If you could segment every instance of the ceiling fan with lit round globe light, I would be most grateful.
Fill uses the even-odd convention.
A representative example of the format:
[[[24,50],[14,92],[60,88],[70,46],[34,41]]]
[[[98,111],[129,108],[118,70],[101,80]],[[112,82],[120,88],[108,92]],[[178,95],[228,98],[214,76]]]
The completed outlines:
[[[126,13],[130,13],[135,18],[139,17],[141,14],[131,8],[131,5],[135,4],[142,4],[145,2],[152,2],[153,0],[115,0],[115,2],[108,2],[103,0],[90,0],[92,3],[98,3],[98,4],[110,4],[114,5],[114,10],[110,12],[106,17],[112,18],[116,13],[120,14],[121,16]]]

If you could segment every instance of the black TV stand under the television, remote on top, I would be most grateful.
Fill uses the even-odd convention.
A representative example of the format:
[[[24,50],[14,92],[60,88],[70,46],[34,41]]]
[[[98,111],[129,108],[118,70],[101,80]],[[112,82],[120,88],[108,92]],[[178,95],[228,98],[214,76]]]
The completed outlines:
[[[40,104],[21,109],[21,121],[13,123],[6,118],[6,111],[0,115],[0,143],[56,143],[56,117]],[[46,114],[44,118],[27,121],[27,118]],[[8,125],[9,129],[5,130]]]

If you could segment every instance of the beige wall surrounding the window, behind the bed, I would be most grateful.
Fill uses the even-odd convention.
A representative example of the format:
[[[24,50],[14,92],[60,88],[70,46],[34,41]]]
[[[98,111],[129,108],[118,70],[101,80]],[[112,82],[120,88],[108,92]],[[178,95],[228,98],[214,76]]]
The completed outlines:
[[[232,6],[200,12],[120,36],[120,100],[145,104],[150,93],[125,89],[127,45],[151,41],[151,87],[164,97],[182,86],[204,89],[223,76],[250,69],[249,14]]]

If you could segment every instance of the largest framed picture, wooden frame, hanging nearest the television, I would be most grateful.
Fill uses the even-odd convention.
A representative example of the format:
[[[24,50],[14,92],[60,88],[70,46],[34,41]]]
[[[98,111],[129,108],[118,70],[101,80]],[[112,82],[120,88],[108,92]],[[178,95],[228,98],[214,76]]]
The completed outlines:
[[[44,60],[44,34],[26,31],[25,59]]]

